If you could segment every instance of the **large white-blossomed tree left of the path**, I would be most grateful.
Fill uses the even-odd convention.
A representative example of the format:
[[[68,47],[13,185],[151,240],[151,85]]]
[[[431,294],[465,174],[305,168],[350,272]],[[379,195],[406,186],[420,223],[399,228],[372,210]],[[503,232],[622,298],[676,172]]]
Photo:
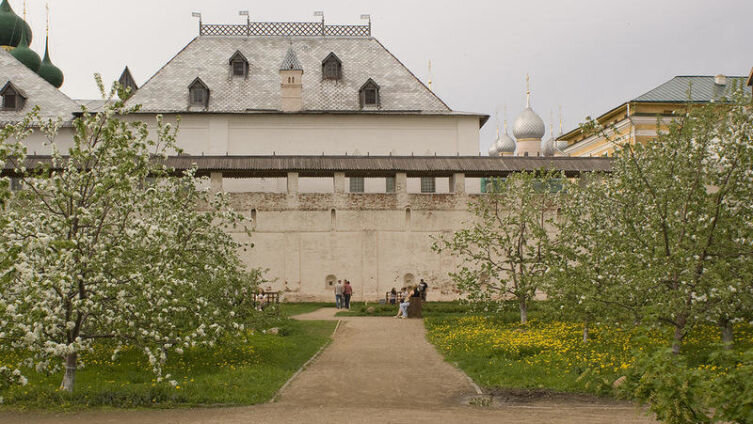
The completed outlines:
[[[102,112],[74,121],[65,155],[54,144],[59,123],[31,116],[0,134],[24,175],[0,221],[0,250],[12,258],[0,262],[0,343],[38,371],[64,360],[68,391],[79,354],[102,339],[113,354],[138,347],[161,379],[168,352],[243,330],[261,278],[237,256],[249,246],[224,231],[242,216],[198,189],[193,172],[161,164],[178,150],[177,129],[158,117],[151,138],[146,123],[125,119],[138,108],[112,100],[115,90]],[[49,136],[53,154],[27,170],[20,140],[31,127]]]

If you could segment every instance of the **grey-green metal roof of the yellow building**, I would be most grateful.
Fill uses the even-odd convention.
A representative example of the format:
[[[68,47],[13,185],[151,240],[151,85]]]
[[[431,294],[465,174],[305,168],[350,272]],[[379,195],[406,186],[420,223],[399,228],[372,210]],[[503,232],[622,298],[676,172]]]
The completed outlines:
[[[677,76],[644,93],[631,102],[710,102],[729,97],[745,85],[745,77],[726,77],[725,85],[714,83],[713,76]]]

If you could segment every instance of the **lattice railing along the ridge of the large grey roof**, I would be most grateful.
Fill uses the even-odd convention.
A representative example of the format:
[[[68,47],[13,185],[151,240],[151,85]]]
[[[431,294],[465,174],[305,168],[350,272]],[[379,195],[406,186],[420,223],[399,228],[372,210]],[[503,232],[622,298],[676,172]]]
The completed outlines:
[[[319,22],[252,22],[239,25],[199,23],[199,35],[209,37],[371,37],[367,25],[327,25]]]

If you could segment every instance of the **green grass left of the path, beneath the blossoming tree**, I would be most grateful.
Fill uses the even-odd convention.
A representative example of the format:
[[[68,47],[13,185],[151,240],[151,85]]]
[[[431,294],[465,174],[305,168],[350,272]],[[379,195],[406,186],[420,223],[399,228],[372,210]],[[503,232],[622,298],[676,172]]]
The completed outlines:
[[[280,320],[280,335],[249,332],[215,348],[171,354],[169,380],[158,383],[135,349],[112,361],[106,349],[82,356],[72,394],[58,390],[62,374],[45,376],[27,370],[29,384],[2,393],[3,408],[81,409],[87,407],[176,407],[250,405],[268,401],[290,376],[325,343],[335,321]]]

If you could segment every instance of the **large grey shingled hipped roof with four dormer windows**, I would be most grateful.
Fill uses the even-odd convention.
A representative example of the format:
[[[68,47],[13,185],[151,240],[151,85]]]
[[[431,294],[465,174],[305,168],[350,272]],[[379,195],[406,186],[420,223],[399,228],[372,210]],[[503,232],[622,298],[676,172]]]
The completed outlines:
[[[280,60],[288,49],[303,68],[304,110],[360,113],[358,89],[372,78],[384,110],[448,112],[450,108],[372,37],[200,36],[162,67],[128,100],[147,113],[191,111],[186,87],[200,77],[212,91],[201,112],[281,110]],[[228,60],[240,51],[248,77],[233,77]],[[342,78],[323,79],[322,60],[335,53]],[[197,110],[198,111],[198,110]]]

